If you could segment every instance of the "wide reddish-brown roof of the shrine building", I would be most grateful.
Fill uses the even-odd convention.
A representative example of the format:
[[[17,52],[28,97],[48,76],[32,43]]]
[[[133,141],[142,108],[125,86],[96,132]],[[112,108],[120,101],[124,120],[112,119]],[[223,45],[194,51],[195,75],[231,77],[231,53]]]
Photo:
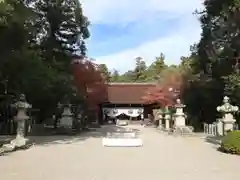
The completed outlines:
[[[142,97],[155,83],[109,83],[108,103],[111,104],[144,104]]]

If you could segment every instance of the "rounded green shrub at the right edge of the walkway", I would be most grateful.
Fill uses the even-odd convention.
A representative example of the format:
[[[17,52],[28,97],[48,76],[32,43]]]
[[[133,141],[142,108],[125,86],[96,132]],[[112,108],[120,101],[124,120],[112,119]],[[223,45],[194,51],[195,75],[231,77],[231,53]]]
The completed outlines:
[[[220,150],[225,153],[240,155],[240,130],[229,132],[222,139]]]

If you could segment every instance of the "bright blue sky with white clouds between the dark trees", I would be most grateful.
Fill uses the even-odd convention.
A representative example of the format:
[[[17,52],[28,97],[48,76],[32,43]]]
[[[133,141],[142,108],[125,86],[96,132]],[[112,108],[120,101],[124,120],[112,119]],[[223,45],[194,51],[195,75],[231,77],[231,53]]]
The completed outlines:
[[[80,0],[91,22],[88,56],[110,70],[134,68],[134,59],[147,64],[161,52],[167,64],[178,64],[198,42],[201,28],[195,9],[201,0]]]

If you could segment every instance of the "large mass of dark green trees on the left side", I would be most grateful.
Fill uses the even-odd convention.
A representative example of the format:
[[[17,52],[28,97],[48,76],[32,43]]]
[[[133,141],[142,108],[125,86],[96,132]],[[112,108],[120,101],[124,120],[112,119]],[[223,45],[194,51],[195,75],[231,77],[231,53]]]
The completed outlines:
[[[70,63],[85,55],[89,22],[78,1],[5,0],[0,3],[0,81],[25,93],[42,119],[75,90]]]

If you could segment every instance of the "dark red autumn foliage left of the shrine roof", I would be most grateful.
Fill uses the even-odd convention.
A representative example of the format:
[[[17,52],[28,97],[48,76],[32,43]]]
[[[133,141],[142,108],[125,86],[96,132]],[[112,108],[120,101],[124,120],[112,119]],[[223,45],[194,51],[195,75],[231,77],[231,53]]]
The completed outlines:
[[[80,59],[72,64],[74,81],[79,93],[85,96],[90,109],[97,110],[98,104],[107,99],[107,85],[93,62]]]

